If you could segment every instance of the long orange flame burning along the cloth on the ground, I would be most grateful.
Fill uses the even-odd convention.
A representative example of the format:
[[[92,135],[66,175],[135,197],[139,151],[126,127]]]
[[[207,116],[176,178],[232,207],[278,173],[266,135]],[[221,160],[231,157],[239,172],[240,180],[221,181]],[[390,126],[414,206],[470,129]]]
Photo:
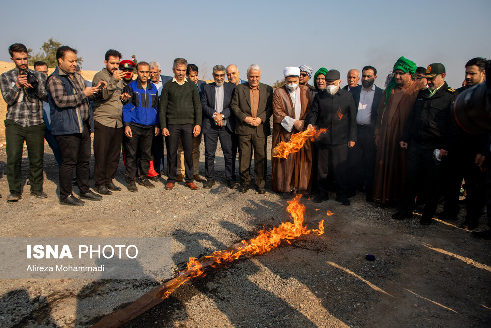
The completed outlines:
[[[282,241],[290,243],[290,239],[295,239],[301,235],[316,233],[320,236],[324,234],[324,220],[319,222],[318,229],[308,230],[304,225],[305,218],[303,217],[303,214],[305,213],[305,205],[300,204],[300,197],[301,195],[297,195],[287,202],[288,207],[286,210],[293,219],[293,222],[282,222],[278,227],[274,227],[270,230],[263,229],[259,231],[257,237],[250,239],[249,241],[242,240],[240,243],[232,245],[228,249],[214,251],[211,255],[204,256],[199,260],[190,257],[189,262],[187,263],[187,269],[180,271],[177,277],[166,282],[157,293],[157,296],[167,298],[176,288],[191,278],[199,276],[203,277],[205,275],[204,269],[206,267],[215,268],[220,263],[234,261],[245,254],[263,254],[278,247]],[[330,213],[329,211],[327,212]]]

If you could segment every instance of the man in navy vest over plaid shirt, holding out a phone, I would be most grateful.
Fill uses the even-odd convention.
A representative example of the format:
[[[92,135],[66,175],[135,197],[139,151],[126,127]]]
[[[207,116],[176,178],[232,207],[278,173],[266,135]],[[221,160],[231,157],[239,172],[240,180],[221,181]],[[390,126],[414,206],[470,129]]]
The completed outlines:
[[[61,46],[56,50],[58,66],[48,77],[51,133],[61,151],[59,173],[60,204],[82,206],[84,201],[72,194],[75,169],[79,196],[92,201],[102,199],[89,189],[90,100],[95,99],[106,82],[86,87],[83,77],[75,73],[77,50]],[[32,182],[31,182],[32,184]]]

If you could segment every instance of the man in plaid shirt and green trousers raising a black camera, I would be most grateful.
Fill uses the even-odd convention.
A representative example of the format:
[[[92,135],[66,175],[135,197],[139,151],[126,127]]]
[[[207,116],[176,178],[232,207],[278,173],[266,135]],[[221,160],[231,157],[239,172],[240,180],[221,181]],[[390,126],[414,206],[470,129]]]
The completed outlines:
[[[30,193],[46,198],[43,192],[44,129],[43,100],[46,100],[46,76],[27,67],[25,45],[14,43],[8,48],[15,68],[0,76],[3,99],[7,103],[5,139],[7,142],[7,201],[21,198],[21,160],[24,141],[29,156]]]

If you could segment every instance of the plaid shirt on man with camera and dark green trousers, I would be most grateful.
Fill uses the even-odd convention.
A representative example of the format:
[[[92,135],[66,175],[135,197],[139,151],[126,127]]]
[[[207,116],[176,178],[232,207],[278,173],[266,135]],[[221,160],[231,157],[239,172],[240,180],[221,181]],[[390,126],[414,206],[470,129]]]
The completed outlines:
[[[19,88],[16,86],[19,69],[14,68],[0,75],[1,94],[7,103],[7,119],[20,126],[33,126],[44,123],[43,100],[47,100],[46,76],[33,71],[37,80],[37,88]]]

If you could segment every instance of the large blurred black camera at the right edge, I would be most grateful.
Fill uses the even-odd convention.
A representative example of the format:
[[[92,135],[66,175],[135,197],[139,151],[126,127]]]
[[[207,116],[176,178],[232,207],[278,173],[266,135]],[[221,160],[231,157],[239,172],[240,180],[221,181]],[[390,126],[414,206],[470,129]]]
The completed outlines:
[[[460,93],[451,109],[456,125],[472,134],[491,133],[491,60],[485,70],[486,81]]]

